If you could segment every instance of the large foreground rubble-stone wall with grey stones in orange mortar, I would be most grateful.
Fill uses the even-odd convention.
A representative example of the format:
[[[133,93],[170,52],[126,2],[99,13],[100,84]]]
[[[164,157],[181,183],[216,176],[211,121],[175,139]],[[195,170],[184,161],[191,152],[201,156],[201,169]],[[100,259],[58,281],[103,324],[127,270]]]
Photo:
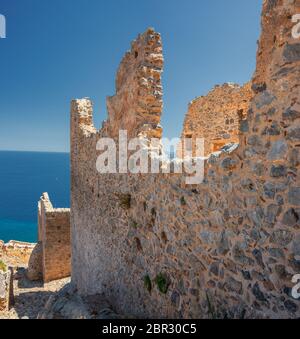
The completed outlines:
[[[201,185],[175,174],[100,175],[96,143],[108,129],[94,129],[88,99],[72,102],[72,281],[81,294],[104,293],[117,311],[141,317],[299,318],[291,296],[300,273],[295,13],[298,0],[264,1],[240,146],[211,156]]]

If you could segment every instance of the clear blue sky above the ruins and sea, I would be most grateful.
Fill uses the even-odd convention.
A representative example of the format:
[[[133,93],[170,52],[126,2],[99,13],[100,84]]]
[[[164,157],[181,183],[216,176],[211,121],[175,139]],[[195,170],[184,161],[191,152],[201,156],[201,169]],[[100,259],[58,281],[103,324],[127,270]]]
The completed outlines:
[[[255,68],[262,0],[0,0],[0,149],[68,151],[69,107],[90,97],[99,127],[130,42],[162,34],[164,136],[180,135],[188,103]]]

